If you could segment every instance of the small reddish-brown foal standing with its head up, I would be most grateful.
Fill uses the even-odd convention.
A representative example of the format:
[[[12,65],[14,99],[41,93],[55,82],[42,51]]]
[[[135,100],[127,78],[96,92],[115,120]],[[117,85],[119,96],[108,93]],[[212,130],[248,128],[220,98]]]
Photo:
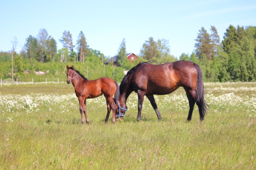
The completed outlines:
[[[86,99],[96,98],[102,94],[106,98],[107,102],[107,116],[105,122],[108,122],[109,114],[112,109],[112,123],[115,123],[115,101],[113,96],[115,96],[116,102],[119,97],[119,85],[114,80],[109,77],[101,77],[97,80],[88,80],[83,74],[80,74],[79,71],[74,69],[74,66],[69,68],[67,66],[67,84],[71,83],[75,88],[76,96],[79,100],[79,110],[81,113],[82,124],[85,122],[84,114],[86,117],[86,123],[89,123],[86,110]],[[83,114],[84,113],[84,114]]]

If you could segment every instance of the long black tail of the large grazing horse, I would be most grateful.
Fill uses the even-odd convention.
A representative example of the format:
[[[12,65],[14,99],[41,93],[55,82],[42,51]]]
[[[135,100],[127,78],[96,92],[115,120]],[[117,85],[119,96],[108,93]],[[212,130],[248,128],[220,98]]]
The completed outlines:
[[[204,83],[203,83],[203,74],[200,67],[194,63],[196,72],[197,72],[197,84],[196,84],[196,104],[197,106],[202,107],[202,116],[200,115],[201,120],[203,120],[204,115],[206,114],[206,109],[208,104],[204,100]]]

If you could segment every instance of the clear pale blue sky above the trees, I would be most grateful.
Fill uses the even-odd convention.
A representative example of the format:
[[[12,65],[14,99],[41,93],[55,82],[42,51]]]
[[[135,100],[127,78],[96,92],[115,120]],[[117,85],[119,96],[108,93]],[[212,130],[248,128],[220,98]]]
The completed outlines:
[[[0,51],[9,51],[17,38],[19,52],[29,35],[46,29],[62,48],[59,39],[70,31],[73,44],[83,31],[87,44],[105,56],[114,56],[125,38],[127,53],[139,54],[150,36],[169,40],[171,55],[191,54],[199,30],[211,33],[215,26],[220,40],[226,29],[256,26],[256,1],[34,1],[0,2]]]

